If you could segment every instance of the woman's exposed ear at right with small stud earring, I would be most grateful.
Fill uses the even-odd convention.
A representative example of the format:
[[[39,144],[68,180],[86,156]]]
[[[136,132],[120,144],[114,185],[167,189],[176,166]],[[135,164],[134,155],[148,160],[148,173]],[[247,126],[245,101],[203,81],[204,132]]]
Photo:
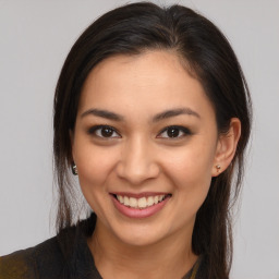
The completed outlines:
[[[240,135],[241,122],[238,118],[232,118],[228,133],[219,135],[211,170],[213,177],[218,177],[230,166],[236,150]]]

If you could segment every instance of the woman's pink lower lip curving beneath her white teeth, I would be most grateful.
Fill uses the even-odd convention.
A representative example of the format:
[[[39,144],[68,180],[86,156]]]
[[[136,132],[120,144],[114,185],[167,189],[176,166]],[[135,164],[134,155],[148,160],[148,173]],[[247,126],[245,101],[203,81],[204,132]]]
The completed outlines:
[[[130,218],[147,218],[160,211],[170,199],[170,196],[168,195],[162,202],[156,205],[142,209],[124,206],[114,196],[111,196],[111,198],[117,209],[124,216]]]

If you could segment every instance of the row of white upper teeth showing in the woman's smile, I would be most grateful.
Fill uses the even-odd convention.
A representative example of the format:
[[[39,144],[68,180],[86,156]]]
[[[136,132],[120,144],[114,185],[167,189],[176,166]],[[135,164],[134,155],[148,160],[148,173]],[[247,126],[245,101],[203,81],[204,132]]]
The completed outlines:
[[[166,196],[167,195],[157,195],[157,196],[135,198],[135,197],[117,195],[117,199],[125,206],[143,209],[153,205],[157,205],[158,203],[162,202]]]

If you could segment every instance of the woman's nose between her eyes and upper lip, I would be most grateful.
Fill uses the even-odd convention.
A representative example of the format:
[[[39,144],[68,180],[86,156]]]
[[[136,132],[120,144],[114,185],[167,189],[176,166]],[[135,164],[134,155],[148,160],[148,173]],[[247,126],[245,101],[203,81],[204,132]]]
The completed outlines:
[[[159,175],[156,151],[147,140],[136,137],[124,144],[117,165],[117,174],[132,185],[138,185]]]

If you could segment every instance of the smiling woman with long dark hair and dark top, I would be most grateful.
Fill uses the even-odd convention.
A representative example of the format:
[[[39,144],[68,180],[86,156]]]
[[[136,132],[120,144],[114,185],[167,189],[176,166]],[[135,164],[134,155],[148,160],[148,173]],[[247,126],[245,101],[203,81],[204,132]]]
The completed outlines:
[[[229,278],[250,107],[205,17],[147,2],[102,15],[57,85],[58,235],[2,257],[1,278]],[[94,211],[76,225],[71,175]]]

